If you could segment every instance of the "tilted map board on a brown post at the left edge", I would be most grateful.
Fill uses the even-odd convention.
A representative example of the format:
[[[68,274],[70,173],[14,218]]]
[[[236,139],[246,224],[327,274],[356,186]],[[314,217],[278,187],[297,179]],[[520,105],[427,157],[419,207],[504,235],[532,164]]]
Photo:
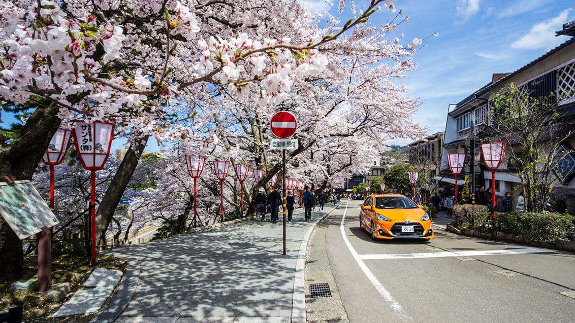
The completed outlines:
[[[18,238],[26,239],[43,227],[59,224],[30,181],[0,182],[0,215]]]

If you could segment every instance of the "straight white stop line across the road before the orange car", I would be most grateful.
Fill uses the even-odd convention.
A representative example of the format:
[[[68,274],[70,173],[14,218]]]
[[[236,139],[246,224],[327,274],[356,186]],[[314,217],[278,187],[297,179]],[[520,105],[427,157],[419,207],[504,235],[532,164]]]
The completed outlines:
[[[417,258],[442,258],[461,256],[487,256],[487,255],[514,255],[514,254],[536,254],[547,252],[538,249],[507,249],[507,250],[470,250],[470,251],[442,251],[442,252],[420,252],[415,254],[379,254],[379,255],[359,255],[363,260],[372,259],[417,259]]]

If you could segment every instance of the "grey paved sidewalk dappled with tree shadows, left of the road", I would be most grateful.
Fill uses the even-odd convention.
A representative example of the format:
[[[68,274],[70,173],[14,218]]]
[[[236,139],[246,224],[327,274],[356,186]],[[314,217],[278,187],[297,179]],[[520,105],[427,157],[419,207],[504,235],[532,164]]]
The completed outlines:
[[[316,207],[316,210],[319,208]],[[94,322],[306,321],[305,251],[317,221],[335,209],[294,211],[286,223],[247,220],[102,252],[128,269],[112,303]]]

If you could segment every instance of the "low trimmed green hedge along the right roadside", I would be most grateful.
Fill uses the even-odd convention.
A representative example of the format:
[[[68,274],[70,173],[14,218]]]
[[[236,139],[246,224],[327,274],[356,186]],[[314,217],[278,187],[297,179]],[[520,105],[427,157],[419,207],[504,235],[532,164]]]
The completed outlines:
[[[522,238],[551,242],[556,238],[575,241],[573,216],[557,212],[497,212],[491,219],[485,205],[463,204],[454,208],[455,225],[484,232],[501,231]]]

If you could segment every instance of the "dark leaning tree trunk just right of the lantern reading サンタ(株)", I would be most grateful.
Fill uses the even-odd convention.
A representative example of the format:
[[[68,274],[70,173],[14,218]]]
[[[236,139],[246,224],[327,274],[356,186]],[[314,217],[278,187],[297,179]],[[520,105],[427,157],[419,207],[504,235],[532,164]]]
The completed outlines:
[[[106,194],[104,194],[104,198],[102,198],[102,201],[98,206],[98,210],[96,212],[97,241],[105,239],[106,237],[106,229],[108,228],[108,225],[110,225],[114,211],[116,211],[116,207],[118,206],[118,203],[120,203],[122,194],[124,194],[124,190],[132,178],[132,174],[138,165],[141,153],[144,151],[145,145],[148,142],[148,138],[150,138],[150,136],[145,136],[143,139],[139,139],[136,147],[130,145],[128,152],[120,164],[120,168],[118,168],[116,175],[112,178],[112,182],[110,182],[110,186],[108,186],[108,190],[106,190]]]

